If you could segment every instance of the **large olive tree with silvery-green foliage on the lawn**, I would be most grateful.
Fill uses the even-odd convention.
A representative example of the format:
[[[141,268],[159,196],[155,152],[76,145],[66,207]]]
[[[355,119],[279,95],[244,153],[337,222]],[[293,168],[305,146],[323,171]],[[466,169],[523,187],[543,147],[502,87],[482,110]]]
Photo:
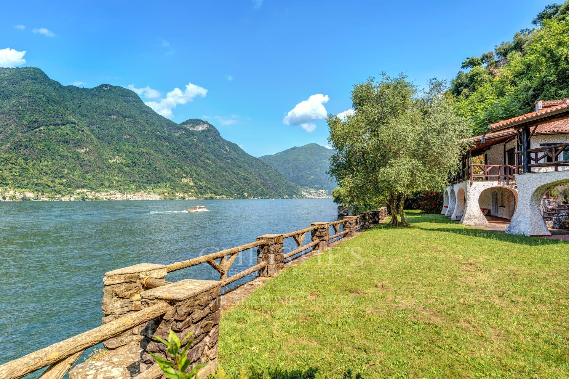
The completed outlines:
[[[390,224],[406,226],[406,197],[447,184],[468,147],[461,139],[469,128],[444,89],[444,82],[433,80],[427,90],[418,91],[403,74],[354,85],[354,114],[327,118],[328,141],[335,150],[329,173],[344,198],[389,203]]]

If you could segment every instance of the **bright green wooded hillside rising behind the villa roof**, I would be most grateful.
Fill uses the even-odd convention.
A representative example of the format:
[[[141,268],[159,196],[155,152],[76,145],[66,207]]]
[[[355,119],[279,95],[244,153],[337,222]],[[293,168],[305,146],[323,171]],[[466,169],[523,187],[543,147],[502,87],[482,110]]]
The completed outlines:
[[[552,4],[533,28],[514,34],[493,51],[468,57],[452,81],[461,115],[473,134],[490,123],[534,111],[534,102],[569,97],[569,1]]]

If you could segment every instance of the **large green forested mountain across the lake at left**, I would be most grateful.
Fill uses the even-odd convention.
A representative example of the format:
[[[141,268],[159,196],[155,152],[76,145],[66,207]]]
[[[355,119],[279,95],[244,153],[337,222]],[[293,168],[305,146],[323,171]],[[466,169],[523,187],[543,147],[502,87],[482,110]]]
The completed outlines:
[[[0,187],[51,194],[80,188],[299,194],[208,122],[176,124],[131,90],[62,86],[34,67],[0,68]]]

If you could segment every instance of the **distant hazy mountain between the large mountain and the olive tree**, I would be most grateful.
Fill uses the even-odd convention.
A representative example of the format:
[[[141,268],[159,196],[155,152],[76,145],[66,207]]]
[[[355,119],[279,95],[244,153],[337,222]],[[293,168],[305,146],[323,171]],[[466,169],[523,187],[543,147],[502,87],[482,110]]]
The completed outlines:
[[[273,155],[259,157],[300,187],[325,189],[331,192],[336,181],[326,173],[333,151],[315,143],[293,147]]]

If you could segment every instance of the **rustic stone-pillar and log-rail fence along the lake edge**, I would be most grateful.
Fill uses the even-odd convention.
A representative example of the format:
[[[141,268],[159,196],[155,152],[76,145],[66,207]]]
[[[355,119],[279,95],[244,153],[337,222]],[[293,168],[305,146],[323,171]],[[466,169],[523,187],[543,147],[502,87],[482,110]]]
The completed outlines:
[[[0,379],[19,379],[43,368],[42,379],[61,379],[83,352],[103,343],[108,355],[86,361],[69,372],[70,379],[130,378],[155,379],[162,371],[149,353],[172,359],[166,346],[152,336],[167,339],[170,330],[182,340],[188,333],[194,339],[188,350],[190,368],[207,363],[199,372],[205,378],[217,367],[221,289],[250,274],[275,276],[287,259],[302,253],[324,250],[332,241],[351,237],[356,230],[382,221],[382,211],[345,216],[333,222],[315,222],[310,227],[287,234],[265,234],[245,245],[168,265],[141,263],[105,273],[103,278],[103,324],[92,330],[57,342],[38,351],[0,365]],[[310,233],[310,242],[304,239]],[[298,247],[284,253],[284,239],[292,238]],[[257,249],[257,264],[227,276],[237,256]],[[220,280],[185,279],[167,281],[167,274],[199,264],[209,264]]]

